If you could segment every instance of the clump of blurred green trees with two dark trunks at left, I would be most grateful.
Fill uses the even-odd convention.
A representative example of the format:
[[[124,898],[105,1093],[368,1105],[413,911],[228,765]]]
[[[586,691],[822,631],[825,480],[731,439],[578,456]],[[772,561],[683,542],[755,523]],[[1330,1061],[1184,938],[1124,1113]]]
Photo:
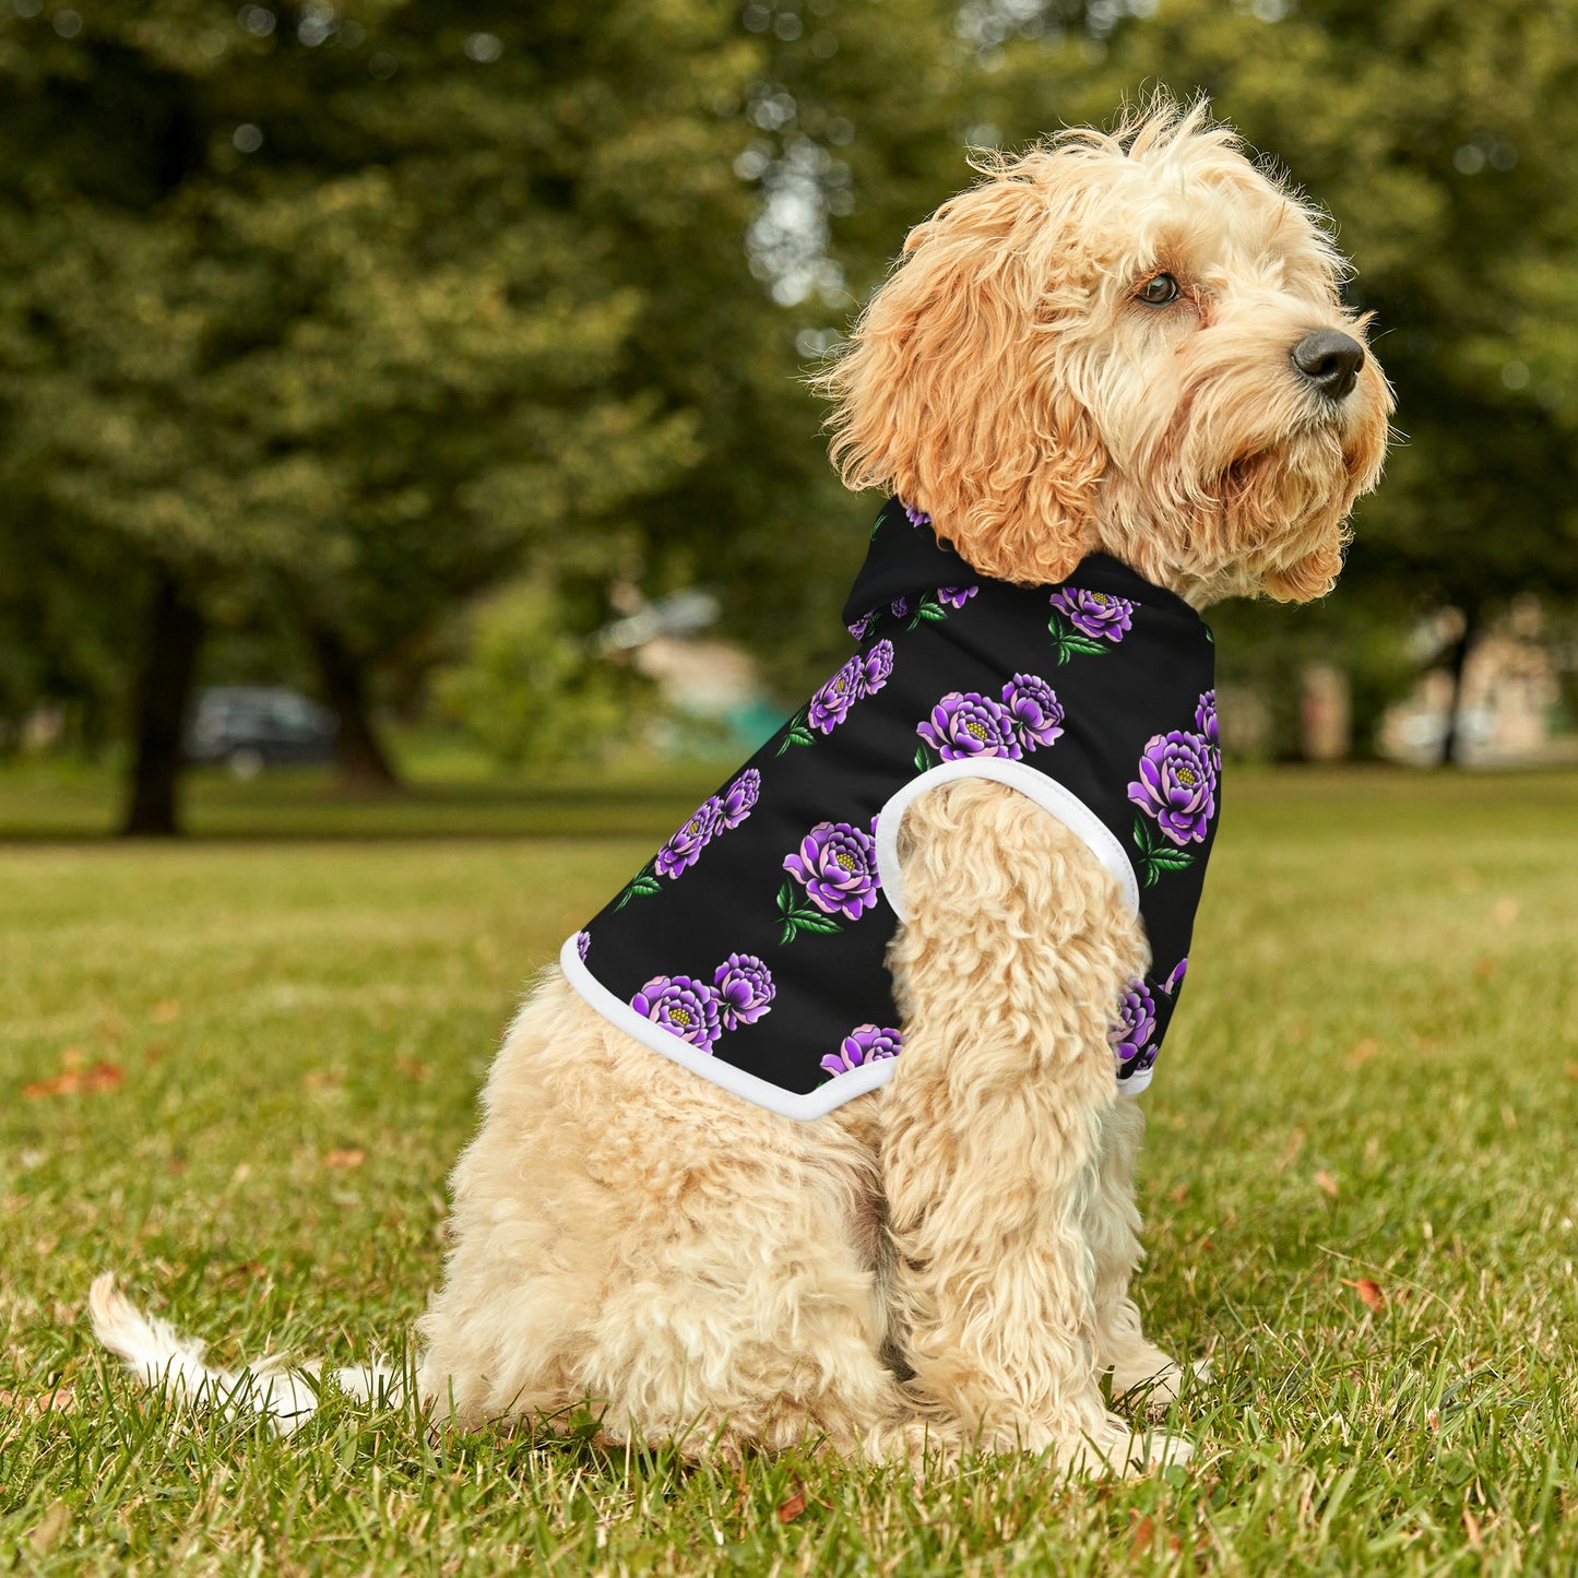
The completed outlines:
[[[754,50],[707,0],[9,11],[9,574],[68,538],[136,565],[126,827],[174,830],[204,623],[265,598],[383,776],[369,669],[522,555],[625,568],[620,511],[699,459],[608,194],[737,238],[712,103]]]

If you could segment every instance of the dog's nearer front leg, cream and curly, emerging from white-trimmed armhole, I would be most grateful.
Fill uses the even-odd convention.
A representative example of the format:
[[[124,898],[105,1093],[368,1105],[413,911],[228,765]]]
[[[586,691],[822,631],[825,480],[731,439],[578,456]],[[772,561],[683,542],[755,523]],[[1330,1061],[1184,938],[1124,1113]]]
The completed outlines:
[[[1056,1447],[1078,1468],[1184,1456],[1133,1442],[1098,1384],[1087,1212],[1138,922],[1084,843],[996,783],[925,795],[899,852],[904,1053],[882,1169],[912,1392],[989,1449]]]

